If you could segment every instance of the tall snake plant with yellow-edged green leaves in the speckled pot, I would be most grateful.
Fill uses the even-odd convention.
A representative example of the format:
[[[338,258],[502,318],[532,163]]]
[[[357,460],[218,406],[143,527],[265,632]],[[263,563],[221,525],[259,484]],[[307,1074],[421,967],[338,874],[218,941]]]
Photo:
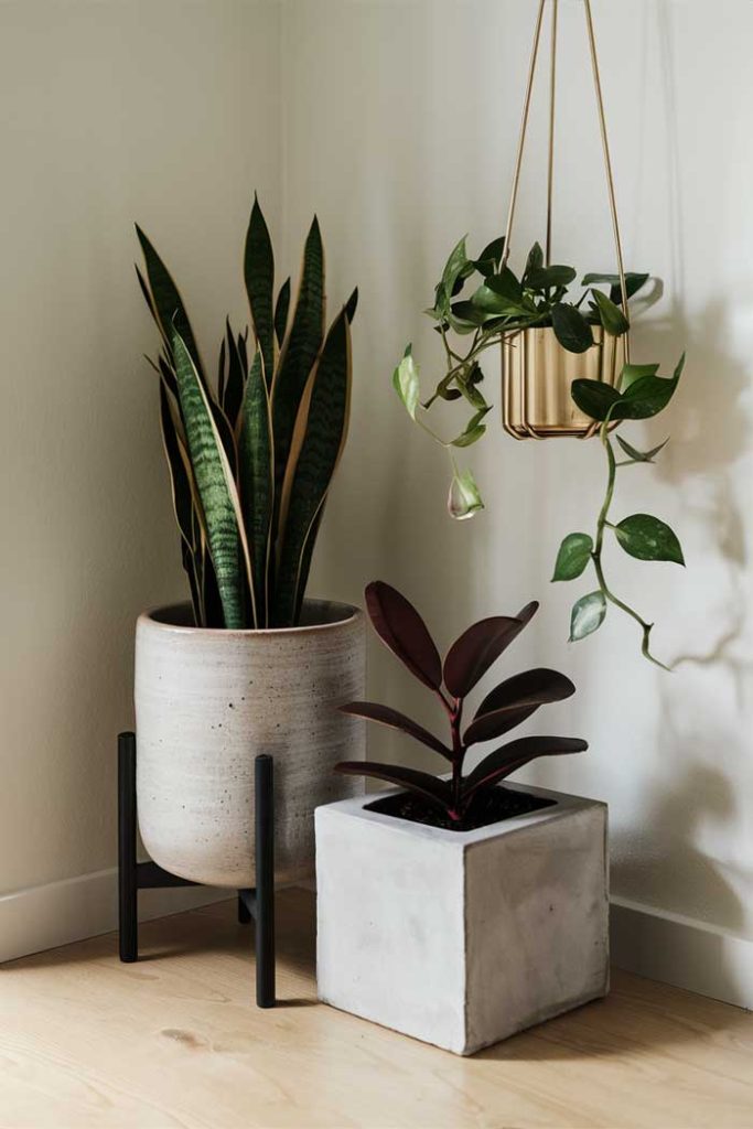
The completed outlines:
[[[161,336],[160,420],[183,567],[198,627],[298,623],[312,554],[348,431],[350,324],[358,291],[325,332],[316,217],[298,296],[274,296],[274,255],[259,201],[246,235],[248,329],[226,321],[216,385],[169,272],[137,226],[139,283]]]

